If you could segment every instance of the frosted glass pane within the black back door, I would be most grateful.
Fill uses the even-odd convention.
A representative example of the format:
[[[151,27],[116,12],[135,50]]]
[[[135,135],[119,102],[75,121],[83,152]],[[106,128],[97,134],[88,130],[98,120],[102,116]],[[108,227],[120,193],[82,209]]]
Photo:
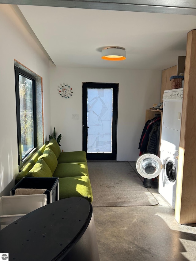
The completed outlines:
[[[112,88],[87,88],[87,153],[112,152]]]

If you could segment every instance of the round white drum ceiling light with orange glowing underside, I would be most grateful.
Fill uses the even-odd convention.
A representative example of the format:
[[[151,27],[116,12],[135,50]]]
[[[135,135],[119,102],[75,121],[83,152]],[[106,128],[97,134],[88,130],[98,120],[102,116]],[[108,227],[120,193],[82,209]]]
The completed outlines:
[[[101,58],[109,61],[122,61],[126,59],[126,50],[122,47],[107,47],[101,51]]]

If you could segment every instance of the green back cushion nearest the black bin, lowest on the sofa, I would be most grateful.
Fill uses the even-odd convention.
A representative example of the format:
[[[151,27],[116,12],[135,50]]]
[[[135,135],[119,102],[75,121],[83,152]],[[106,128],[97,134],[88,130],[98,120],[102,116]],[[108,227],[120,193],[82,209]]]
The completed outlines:
[[[26,177],[52,177],[52,172],[43,159],[39,159]]]

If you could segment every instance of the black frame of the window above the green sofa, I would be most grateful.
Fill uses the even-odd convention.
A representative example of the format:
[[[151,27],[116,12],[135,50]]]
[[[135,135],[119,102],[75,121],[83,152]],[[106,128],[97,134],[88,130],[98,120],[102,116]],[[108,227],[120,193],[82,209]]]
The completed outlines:
[[[18,143],[18,167],[19,169],[28,161],[28,159],[37,150],[37,120],[36,120],[36,78],[25,72],[21,68],[14,66],[15,72],[15,92],[16,92],[16,118],[17,118],[17,143]],[[34,148],[22,159],[21,146],[21,118],[20,118],[20,94],[19,94],[19,74],[32,80],[32,101],[33,101],[33,133],[34,133]]]

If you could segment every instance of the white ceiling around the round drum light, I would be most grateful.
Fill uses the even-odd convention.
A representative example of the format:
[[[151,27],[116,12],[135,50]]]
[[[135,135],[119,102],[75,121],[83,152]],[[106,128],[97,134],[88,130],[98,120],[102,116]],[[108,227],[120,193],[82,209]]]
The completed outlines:
[[[18,5],[56,66],[162,70],[186,55],[196,16]],[[107,46],[126,49],[126,60],[101,59]]]

